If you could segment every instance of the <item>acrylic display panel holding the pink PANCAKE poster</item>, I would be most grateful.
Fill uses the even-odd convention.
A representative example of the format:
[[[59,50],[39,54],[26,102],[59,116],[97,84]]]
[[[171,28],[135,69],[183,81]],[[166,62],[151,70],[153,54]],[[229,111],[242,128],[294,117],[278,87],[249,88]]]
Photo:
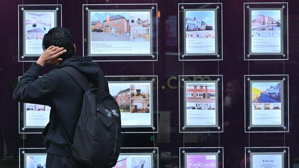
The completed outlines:
[[[223,147],[180,147],[182,168],[223,168]]]

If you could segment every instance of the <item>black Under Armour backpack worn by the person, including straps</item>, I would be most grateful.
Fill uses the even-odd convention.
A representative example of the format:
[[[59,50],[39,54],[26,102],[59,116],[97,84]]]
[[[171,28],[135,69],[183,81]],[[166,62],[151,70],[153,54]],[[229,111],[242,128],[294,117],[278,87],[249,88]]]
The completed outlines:
[[[85,91],[81,114],[71,144],[73,158],[87,167],[113,167],[119,157],[121,138],[120,110],[117,102],[101,88],[92,88],[77,69],[60,68],[68,73]]]

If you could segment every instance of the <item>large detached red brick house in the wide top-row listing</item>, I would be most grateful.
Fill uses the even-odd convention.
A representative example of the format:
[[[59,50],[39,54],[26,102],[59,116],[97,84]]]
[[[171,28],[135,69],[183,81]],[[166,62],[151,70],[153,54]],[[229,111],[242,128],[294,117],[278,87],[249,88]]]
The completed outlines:
[[[103,21],[103,32],[109,34],[130,35],[129,20],[120,15],[106,18]]]

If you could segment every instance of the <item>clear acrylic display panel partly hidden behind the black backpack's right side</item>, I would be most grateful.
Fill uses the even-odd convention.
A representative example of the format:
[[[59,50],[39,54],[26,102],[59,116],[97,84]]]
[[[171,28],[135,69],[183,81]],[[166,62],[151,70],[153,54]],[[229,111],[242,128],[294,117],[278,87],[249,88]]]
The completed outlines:
[[[123,132],[157,132],[157,76],[106,77],[119,105]]]

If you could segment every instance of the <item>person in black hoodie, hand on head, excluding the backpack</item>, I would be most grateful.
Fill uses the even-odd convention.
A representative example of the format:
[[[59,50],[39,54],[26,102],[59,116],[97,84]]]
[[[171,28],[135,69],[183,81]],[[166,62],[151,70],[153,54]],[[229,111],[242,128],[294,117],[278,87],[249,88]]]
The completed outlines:
[[[66,28],[55,27],[44,35],[44,52],[37,62],[20,79],[13,92],[13,99],[24,103],[43,104],[51,107],[50,121],[43,131],[47,148],[47,168],[84,168],[71,156],[71,143],[81,112],[84,91],[75,80],[60,68],[70,66],[81,72],[91,83],[109,92],[107,79],[90,57],[74,56],[74,38]],[[39,77],[47,64],[57,68]],[[66,133],[59,122],[59,117]],[[67,134],[67,136],[66,136]]]

